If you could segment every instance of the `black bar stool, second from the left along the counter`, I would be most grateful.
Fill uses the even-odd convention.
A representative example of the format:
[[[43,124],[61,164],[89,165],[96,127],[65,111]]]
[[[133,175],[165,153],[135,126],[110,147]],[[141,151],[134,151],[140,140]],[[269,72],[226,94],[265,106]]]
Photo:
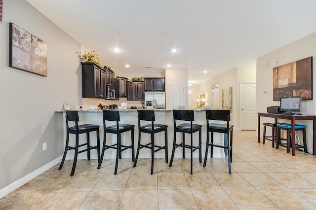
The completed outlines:
[[[106,127],[106,121],[115,121],[116,125],[108,126]],[[116,156],[116,162],[115,162],[115,170],[114,170],[114,175],[117,174],[118,172],[118,159],[121,159],[121,152],[126,150],[126,149],[132,149],[132,161],[134,162],[134,125],[130,124],[119,124],[118,122],[120,121],[119,119],[119,112],[114,111],[114,110],[103,110],[103,146],[102,146],[102,154],[101,154],[101,159],[99,161],[98,169],[100,169],[104,152],[107,149],[116,149],[117,150],[117,156]],[[125,146],[121,144],[121,137],[120,134],[131,131],[131,145]],[[106,137],[107,133],[110,134],[116,134],[117,135],[117,143],[113,145],[106,145]],[[123,147],[123,149],[121,148]]]

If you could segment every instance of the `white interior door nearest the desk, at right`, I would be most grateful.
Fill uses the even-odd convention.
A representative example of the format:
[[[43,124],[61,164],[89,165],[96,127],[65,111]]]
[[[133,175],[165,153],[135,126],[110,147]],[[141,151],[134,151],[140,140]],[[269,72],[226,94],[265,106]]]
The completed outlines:
[[[240,129],[256,130],[256,83],[240,83]]]

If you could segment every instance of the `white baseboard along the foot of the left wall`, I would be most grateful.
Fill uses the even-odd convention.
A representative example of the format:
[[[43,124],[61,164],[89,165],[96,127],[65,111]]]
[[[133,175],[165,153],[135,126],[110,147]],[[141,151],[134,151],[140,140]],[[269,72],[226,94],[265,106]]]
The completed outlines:
[[[61,162],[62,156],[56,158],[55,160],[47,163],[46,165],[40,167],[39,169],[35,170],[34,172],[23,176],[22,178],[16,180],[15,182],[9,184],[8,186],[0,189],[0,199],[9,194],[10,192],[16,190],[23,184],[27,183],[28,181],[31,181],[33,178],[37,177],[38,175],[44,173],[51,167],[55,166],[57,163]]]

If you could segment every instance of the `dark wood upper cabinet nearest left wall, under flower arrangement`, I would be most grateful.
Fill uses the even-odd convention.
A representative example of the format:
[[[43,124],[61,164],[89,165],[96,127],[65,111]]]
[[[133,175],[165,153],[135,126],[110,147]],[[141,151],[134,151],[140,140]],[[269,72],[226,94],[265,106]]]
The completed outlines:
[[[105,71],[93,63],[81,63],[81,66],[82,98],[105,98]]]

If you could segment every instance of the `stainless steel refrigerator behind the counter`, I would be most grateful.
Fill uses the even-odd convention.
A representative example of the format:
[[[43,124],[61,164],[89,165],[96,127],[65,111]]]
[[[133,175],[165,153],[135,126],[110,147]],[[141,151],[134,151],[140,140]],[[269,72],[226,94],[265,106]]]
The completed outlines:
[[[151,102],[151,103],[150,103]],[[166,108],[165,92],[145,92],[145,105],[154,106],[156,109]]]

